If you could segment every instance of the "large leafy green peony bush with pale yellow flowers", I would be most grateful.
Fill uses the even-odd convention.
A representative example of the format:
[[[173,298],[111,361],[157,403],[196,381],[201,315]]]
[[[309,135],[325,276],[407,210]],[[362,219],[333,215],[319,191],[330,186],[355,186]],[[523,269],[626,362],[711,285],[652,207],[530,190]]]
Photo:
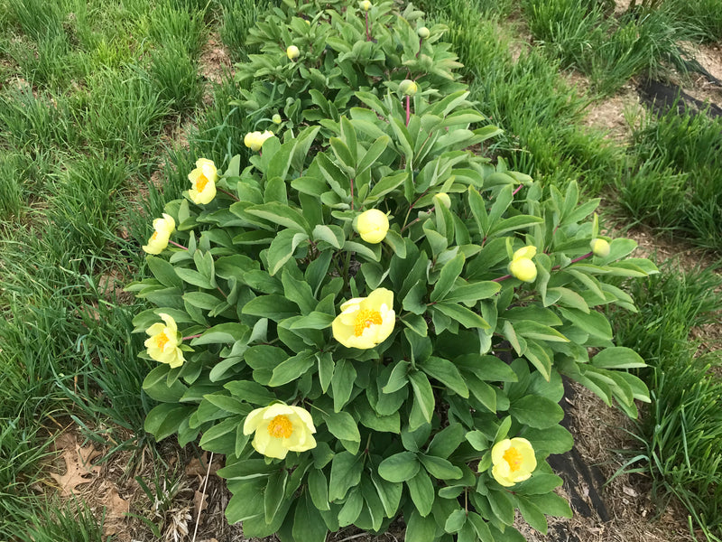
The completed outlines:
[[[439,28],[417,36],[390,5],[313,7],[290,2],[259,23],[280,25],[265,54],[310,27],[338,61],[338,40],[364,42],[370,14],[369,58],[388,35],[411,43],[405,63],[419,37],[449,60]],[[339,19],[353,30],[334,41]],[[318,70],[323,53],[304,51],[283,65]],[[347,79],[371,65],[344,58]],[[653,264],[600,235],[598,200],[579,204],[576,182],[542,188],[475,152],[500,130],[463,85],[420,71],[409,96],[408,71],[348,92],[346,110],[286,112],[295,119],[260,142],[251,132],[263,152],[215,171],[210,201],[169,202],[163,242],[146,250],[152,276],[129,286],[154,305],[134,319],[159,362],[143,383],[158,401],[145,428],[226,456],[227,519],[246,537],[321,542],[401,518],[414,542],[502,542],[523,539],[517,510],[546,532],[546,516],[570,514],[546,461],[572,445],[562,375],[630,416],[649,400],[627,372],[643,360],[615,346],[598,309],[634,310],[611,279]]]

